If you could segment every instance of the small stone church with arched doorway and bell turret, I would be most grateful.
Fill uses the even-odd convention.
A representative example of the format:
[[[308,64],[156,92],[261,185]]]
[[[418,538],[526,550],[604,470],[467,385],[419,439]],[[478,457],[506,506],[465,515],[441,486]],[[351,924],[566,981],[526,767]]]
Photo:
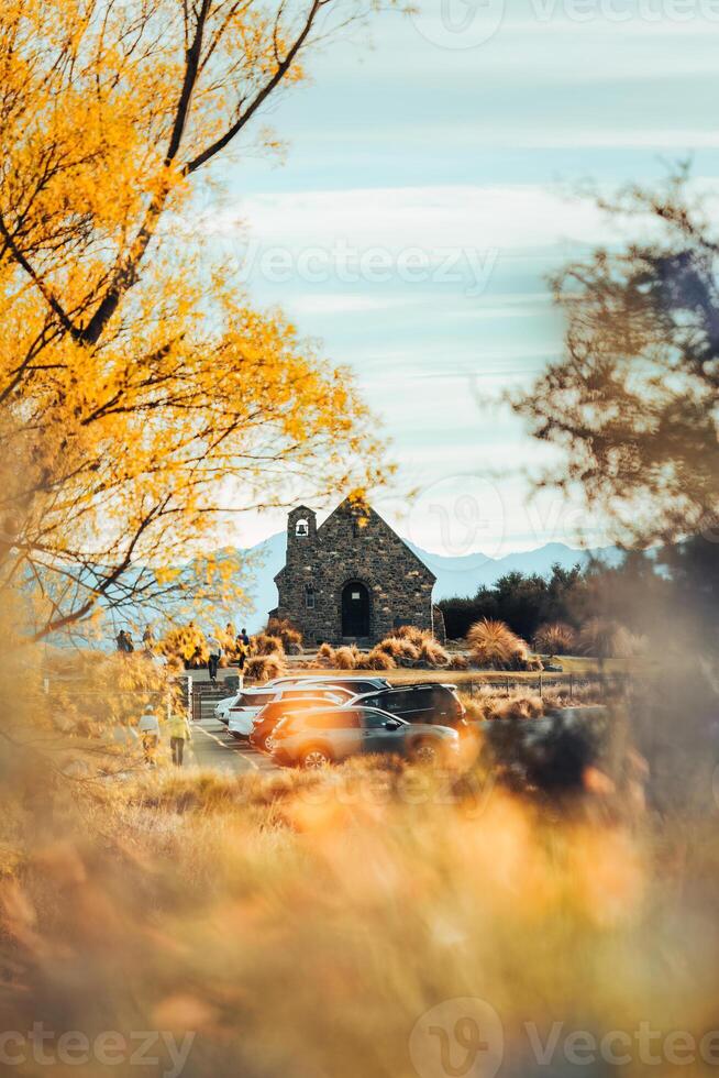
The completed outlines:
[[[374,509],[346,499],[318,528],[301,505],[287,519],[287,563],[275,576],[272,615],[288,618],[310,645],[372,645],[402,625],[435,631],[435,579]]]

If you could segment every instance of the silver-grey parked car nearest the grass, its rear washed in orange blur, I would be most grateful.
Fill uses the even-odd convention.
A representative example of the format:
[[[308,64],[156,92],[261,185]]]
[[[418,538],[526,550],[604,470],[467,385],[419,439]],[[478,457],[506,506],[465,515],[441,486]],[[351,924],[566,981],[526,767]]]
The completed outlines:
[[[425,726],[375,707],[322,707],[283,718],[272,757],[285,767],[320,768],[365,752],[391,752],[423,763],[456,759],[460,737],[446,726]]]

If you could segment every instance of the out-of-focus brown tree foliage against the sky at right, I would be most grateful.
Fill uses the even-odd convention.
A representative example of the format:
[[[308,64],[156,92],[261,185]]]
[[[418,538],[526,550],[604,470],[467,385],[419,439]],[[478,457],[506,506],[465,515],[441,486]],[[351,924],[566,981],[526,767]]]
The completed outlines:
[[[564,354],[516,411],[562,450],[547,484],[584,493],[627,541],[712,535],[719,509],[719,235],[679,168],[601,201],[640,239],[552,282]]]

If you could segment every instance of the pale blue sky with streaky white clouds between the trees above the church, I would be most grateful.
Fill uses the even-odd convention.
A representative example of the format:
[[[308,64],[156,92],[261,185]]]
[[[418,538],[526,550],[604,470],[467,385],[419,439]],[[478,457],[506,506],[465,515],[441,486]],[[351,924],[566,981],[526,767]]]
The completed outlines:
[[[578,503],[530,497],[553,459],[500,398],[561,354],[546,275],[611,238],[580,191],[689,155],[716,179],[718,44],[719,0],[419,0],[273,102],[281,164],[226,166],[203,228],[255,302],[353,369],[399,465],[373,504],[424,549],[610,541]]]

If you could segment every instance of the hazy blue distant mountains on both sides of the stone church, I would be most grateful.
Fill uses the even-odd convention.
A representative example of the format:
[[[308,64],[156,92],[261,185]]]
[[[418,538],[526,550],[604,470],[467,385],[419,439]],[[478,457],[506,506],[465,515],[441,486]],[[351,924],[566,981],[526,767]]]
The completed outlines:
[[[543,576],[551,572],[555,563],[564,569],[571,569],[577,563],[585,565],[593,558],[602,559],[609,564],[617,564],[622,558],[622,552],[616,547],[574,550],[563,542],[547,542],[537,550],[522,550],[506,554],[504,558],[489,558],[483,553],[449,558],[444,554],[430,553],[408,540],[405,541],[436,576],[433,592],[435,603],[455,595],[474,595],[483,584],[491,585],[505,573],[515,570],[527,574],[539,573]],[[253,580],[246,590],[255,609],[252,614],[247,614],[245,622],[253,632],[265,624],[267,610],[272,610],[277,605],[274,578],[285,564],[286,549],[287,537],[284,531],[280,531],[245,551],[254,566]]]

